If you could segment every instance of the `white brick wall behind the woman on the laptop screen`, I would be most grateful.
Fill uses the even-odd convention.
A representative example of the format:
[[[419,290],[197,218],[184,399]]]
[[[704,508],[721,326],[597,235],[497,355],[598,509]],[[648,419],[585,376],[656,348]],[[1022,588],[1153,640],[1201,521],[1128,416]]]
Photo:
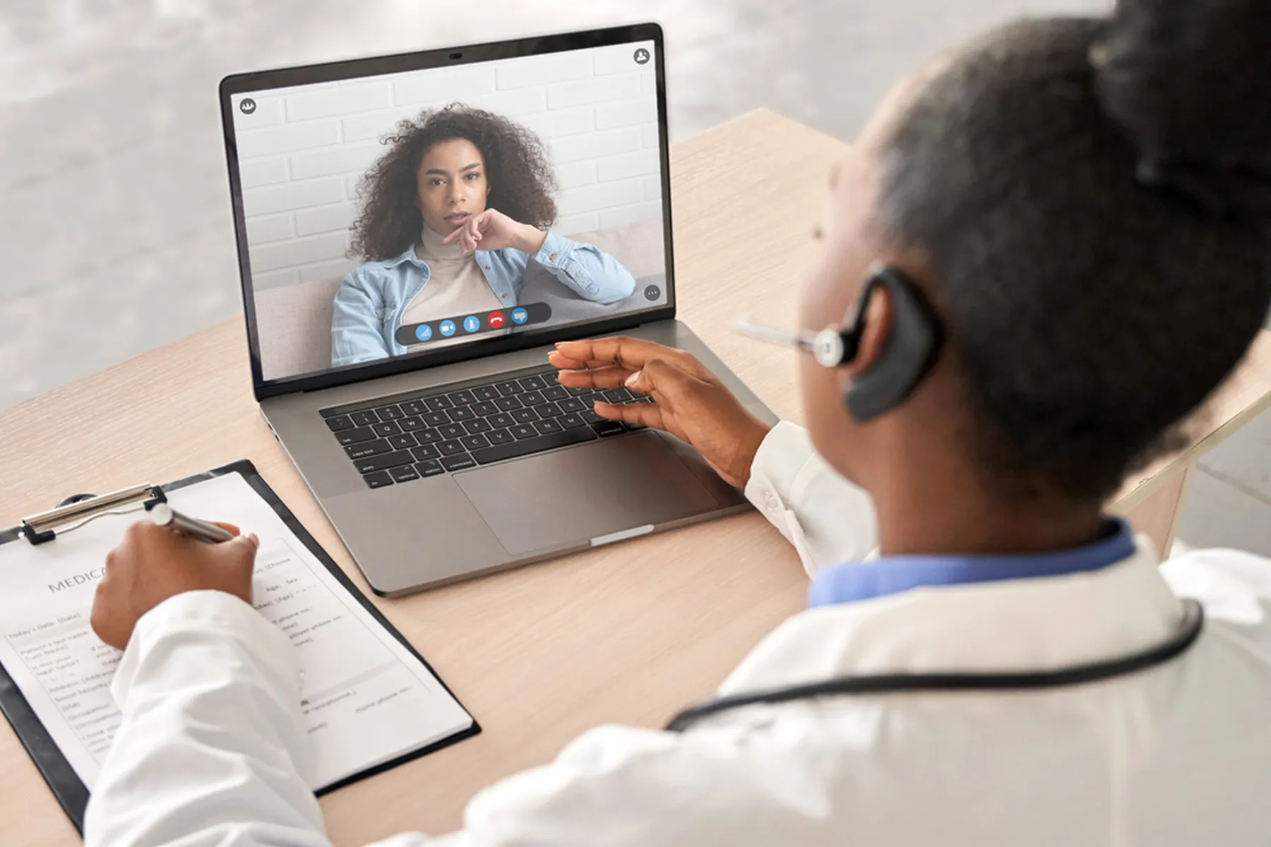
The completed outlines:
[[[643,44],[652,52],[651,42]],[[652,63],[634,44],[323,83],[234,98],[239,174],[257,288],[342,277],[362,173],[380,136],[459,100],[505,114],[548,145],[562,235],[661,213]],[[244,97],[255,110],[243,114]]]

